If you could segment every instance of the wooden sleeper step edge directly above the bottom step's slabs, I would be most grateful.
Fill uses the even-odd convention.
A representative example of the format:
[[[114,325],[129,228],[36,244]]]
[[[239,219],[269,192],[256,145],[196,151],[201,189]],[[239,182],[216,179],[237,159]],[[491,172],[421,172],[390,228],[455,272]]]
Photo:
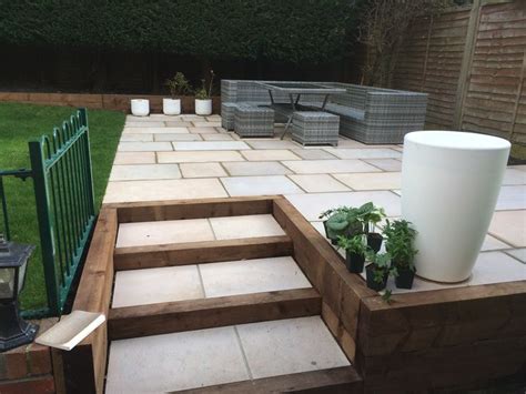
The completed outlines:
[[[213,299],[111,309],[110,340],[255,323],[321,314],[314,289],[295,289]]]

